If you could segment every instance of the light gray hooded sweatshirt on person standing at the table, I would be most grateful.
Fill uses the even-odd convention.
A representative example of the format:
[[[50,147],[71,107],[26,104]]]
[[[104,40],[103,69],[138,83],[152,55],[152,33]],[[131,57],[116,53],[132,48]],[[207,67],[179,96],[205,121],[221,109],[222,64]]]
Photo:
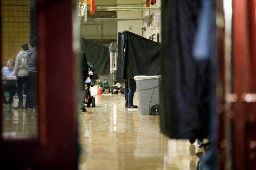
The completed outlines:
[[[28,76],[27,52],[20,51],[15,60],[15,76]]]

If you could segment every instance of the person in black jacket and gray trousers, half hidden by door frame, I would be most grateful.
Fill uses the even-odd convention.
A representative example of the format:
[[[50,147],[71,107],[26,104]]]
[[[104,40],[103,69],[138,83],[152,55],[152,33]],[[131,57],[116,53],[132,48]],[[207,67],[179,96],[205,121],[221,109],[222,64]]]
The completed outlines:
[[[79,70],[82,70],[82,72],[79,74],[80,76],[79,76],[79,87],[78,87],[78,102],[79,102],[78,109],[81,110],[82,112],[86,112],[87,110],[84,108],[84,104],[85,104],[85,93],[86,93],[85,81],[89,76],[88,64],[87,64],[87,59],[84,52],[80,51],[79,57],[80,57]]]

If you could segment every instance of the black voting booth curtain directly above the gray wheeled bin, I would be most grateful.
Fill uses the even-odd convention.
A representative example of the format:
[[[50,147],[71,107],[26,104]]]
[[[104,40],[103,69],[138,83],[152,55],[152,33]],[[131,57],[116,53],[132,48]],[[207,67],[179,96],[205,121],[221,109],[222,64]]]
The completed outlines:
[[[162,44],[140,35],[118,33],[116,81],[136,75],[159,75]]]

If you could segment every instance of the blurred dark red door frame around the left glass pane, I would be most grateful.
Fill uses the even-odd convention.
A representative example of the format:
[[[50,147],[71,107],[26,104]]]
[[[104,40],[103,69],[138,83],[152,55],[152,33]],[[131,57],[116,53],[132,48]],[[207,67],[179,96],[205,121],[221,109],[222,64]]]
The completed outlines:
[[[77,169],[72,2],[36,1],[39,138],[20,141],[0,139],[0,167]],[[0,122],[2,127],[2,116]]]

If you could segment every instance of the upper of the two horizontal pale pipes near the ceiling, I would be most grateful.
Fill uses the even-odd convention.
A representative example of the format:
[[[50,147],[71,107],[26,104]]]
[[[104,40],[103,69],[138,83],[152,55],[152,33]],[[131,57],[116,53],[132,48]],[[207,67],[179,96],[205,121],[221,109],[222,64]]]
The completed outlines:
[[[152,11],[161,7],[95,7],[95,11]]]

